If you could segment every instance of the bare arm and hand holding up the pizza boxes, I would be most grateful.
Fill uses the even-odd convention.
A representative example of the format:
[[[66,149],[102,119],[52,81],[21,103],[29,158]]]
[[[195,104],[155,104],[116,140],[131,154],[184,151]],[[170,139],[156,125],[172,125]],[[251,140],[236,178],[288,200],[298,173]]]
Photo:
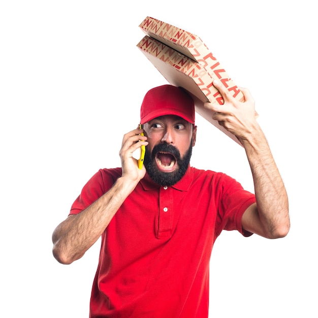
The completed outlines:
[[[266,238],[280,238],[290,229],[288,196],[266,137],[255,116],[255,102],[249,91],[240,88],[245,102],[236,101],[218,81],[213,85],[224,105],[205,103],[211,116],[234,134],[243,145],[250,165],[256,195],[242,217],[242,227]]]

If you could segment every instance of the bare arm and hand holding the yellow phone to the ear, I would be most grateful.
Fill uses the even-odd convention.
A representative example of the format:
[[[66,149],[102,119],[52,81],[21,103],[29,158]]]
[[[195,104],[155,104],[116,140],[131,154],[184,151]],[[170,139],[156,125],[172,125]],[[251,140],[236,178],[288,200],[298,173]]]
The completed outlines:
[[[146,173],[138,168],[133,152],[147,145],[147,137],[140,136],[142,130],[125,134],[119,152],[122,175],[110,190],[82,212],[70,215],[62,221],[52,235],[53,256],[62,264],[71,264],[99,239],[123,201],[134,190]],[[141,140],[140,142],[137,142]]]

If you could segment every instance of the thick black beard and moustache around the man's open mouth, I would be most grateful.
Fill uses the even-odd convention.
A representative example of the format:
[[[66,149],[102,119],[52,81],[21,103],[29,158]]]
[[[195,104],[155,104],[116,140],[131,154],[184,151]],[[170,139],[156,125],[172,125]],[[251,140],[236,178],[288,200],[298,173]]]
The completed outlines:
[[[154,146],[151,153],[146,147],[144,166],[148,172],[149,177],[160,186],[171,186],[176,184],[184,176],[192,156],[192,142],[184,156],[181,158],[179,150],[172,145],[158,144]],[[173,172],[163,172],[158,170],[156,165],[156,154],[158,152],[167,152],[175,157],[178,168]]]

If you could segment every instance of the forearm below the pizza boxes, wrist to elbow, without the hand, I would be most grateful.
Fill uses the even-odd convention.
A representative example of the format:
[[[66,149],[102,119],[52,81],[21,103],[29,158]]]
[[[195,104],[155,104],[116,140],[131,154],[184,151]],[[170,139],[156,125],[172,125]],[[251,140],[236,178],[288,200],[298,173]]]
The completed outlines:
[[[269,238],[283,237],[290,228],[287,192],[264,133],[257,122],[251,131],[241,142],[253,176],[262,232]]]

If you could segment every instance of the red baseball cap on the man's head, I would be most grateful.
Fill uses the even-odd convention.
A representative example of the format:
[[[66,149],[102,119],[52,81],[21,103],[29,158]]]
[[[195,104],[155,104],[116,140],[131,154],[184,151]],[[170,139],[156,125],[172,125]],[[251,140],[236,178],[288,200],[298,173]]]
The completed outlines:
[[[141,104],[140,123],[164,115],[176,115],[194,124],[194,100],[182,87],[166,84],[151,88]]]

